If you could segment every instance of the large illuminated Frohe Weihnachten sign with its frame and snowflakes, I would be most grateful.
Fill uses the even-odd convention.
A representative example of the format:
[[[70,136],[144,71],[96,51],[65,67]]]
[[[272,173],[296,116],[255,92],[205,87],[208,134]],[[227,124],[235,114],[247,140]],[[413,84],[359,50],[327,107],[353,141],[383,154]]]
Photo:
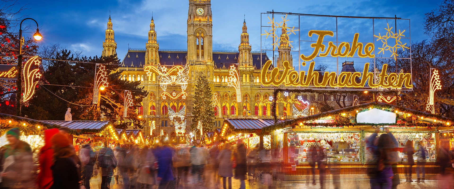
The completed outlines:
[[[279,17],[282,18],[280,22],[276,21],[281,20]],[[305,19],[316,18],[323,20],[325,19],[323,17],[331,19],[333,22],[336,20],[336,30],[323,30],[325,25],[307,26],[308,20]],[[351,34],[351,38],[345,35],[338,36],[340,32],[337,29],[338,19],[344,19],[342,21],[346,19],[363,19],[362,21],[365,21],[365,23],[369,23],[370,20],[373,28],[371,30],[368,28],[368,30],[372,31],[373,38],[370,38],[371,40],[369,41],[364,41],[364,39],[367,39],[364,38],[364,34],[361,37],[360,33],[355,32]],[[388,20],[399,23],[399,25],[390,25],[387,23]],[[297,25],[289,26],[289,23]],[[306,23],[305,27],[302,27],[303,23]],[[408,24],[408,28],[402,28],[403,26],[400,26],[402,23],[405,24],[405,27]],[[401,29],[397,26],[400,26]],[[307,30],[301,31],[304,28],[312,30],[308,30],[308,33],[306,33]],[[350,31],[348,32],[351,33]],[[262,87],[280,87],[284,89],[296,87],[317,90],[413,90],[411,54],[409,55],[410,57],[402,57],[398,53],[398,50],[411,50],[411,44],[407,42],[407,40],[411,41],[409,19],[266,12],[262,13],[261,35],[261,52],[273,51],[273,55],[275,55],[276,52],[274,51],[278,51],[278,54],[281,55],[283,54],[282,51],[288,51],[290,53],[298,53],[299,56],[297,64],[295,64],[295,58],[292,63],[286,61],[288,59],[285,57],[273,58],[273,61],[267,60],[266,62],[261,60],[260,79]],[[305,38],[301,40],[300,38],[302,37]],[[338,37],[342,37],[344,41],[338,40]],[[291,45],[293,42],[291,41],[292,38],[293,40],[298,39],[293,43],[294,47]],[[351,41],[345,41],[345,39]],[[301,45],[302,43],[304,44]],[[295,54],[293,54],[293,57],[296,57]],[[336,61],[333,59],[331,61],[336,62],[337,66],[334,66],[336,66],[337,70],[330,72],[314,70],[316,64],[319,63],[318,61],[323,57],[335,58]],[[373,61],[370,60],[370,63],[364,64],[363,72],[341,72],[339,70],[339,62],[341,61],[339,57],[351,57],[354,60],[367,58],[373,59]],[[410,62],[410,69],[400,70],[400,72],[396,73],[388,72],[391,70],[389,65],[378,66],[376,65],[376,59],[393,59],[394,61],[407,59],[406,61]],[[274,62],[274,60],[279,62]],[[369,71],[369,66],[372,67],[371,71]],[[380,72],[378,72],[377,67],[381,69]],[[408,73],[404,73],[404,71]],[[377,78],[380,79],[377,80]]]

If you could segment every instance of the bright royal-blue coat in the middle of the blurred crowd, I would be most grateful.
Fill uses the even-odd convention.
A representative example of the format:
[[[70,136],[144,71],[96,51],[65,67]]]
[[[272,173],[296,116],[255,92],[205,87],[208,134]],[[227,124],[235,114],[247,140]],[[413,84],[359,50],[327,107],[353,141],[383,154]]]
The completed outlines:
[[[160,146],[154,150],[153,154],[158,161],[158,177],[162,181],[173,180],[172,149]]]

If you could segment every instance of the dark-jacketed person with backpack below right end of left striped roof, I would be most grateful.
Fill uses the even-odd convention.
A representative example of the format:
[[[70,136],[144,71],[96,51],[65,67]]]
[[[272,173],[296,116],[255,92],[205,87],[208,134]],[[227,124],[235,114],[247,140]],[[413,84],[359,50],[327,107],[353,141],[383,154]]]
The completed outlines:
[[[117,159],[115,159],[114,151],[107,146],[99,150],[98,166],[101,168],[101,189],[109,189],[110,181],[114,175],[114,168],[117,167]]]

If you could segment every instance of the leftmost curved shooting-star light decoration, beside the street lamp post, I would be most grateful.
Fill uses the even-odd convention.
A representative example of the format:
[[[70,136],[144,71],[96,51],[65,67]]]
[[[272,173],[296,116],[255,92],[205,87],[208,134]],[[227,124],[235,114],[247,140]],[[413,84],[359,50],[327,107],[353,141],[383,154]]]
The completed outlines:
[[[35,94],[35,86],[38,84],[41,74],[39,73],[39,56],[31,57],[24,65],[24,71],[22,72],[22,79],[24,80],[24,94],[22,96],[22,102],[28,101],[33,94]],[[33,68],[35,69],[33,69]],[[20,78],[19,78],[20,79]]]

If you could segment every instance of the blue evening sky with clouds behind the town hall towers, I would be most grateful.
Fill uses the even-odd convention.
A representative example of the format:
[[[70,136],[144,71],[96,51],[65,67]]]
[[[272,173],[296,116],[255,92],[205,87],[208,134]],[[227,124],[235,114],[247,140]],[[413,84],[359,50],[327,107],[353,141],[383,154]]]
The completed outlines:
[[[423,33],[424,13],[437,8],[440,3],[441,0],[212,0],[213,50],[238,50],[243,15],[246,15],[252,50],[260,50],[260,13],[271,10],[320,15],[397,15],[411,20],[411,40],[421,41],[429,38]],[[145,48],[153,11],[159,48],[187,49],[188,0],[20,0],[20,4],[30,8],[25,13],[38,21],[44,37],[43,45],[60,43],[69,50],[82,51],[86,56],[101,55],[110,10],[118,57],[123,59],[128,44],[131,48]],[[393,20],[389,23],[394,25]],[[351,21],[339,24],[344,24],[343,29],[350,27],[349,24],[352,28],[363,25],[355,25],[355,22]],[[365,30],[367,27],[369,26],[360,27],[358,30]],[[307,30],[310,29],[301,25],[301,30],[306,32],[304,36],[307,36]],[[345,38],[353,38],[353,34],[346,33],[348,34]],[[383,35],[384,32],[380,33]],[[265,42],[262,44],[266,45]],[[297,60],[295,55],[293,58]]]

